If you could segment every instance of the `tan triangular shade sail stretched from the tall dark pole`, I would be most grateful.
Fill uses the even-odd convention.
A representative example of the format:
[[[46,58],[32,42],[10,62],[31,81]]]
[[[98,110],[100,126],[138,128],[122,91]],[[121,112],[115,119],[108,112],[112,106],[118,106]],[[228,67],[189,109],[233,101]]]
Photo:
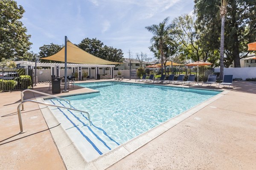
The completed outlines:
[[[48,59],[53,61],[65,62],[65,47],[61,49],[58,53],[44,57],[41,59]],[[78,63],[78,64],[99,64],[99,65],[108,65],[108,64],[122,64],[122,62],[111,62],[105,59],[101,59],[92,54],[87,53],[81,48],[74,45],[72,42],[67,41],[67,62],[69,63]]]

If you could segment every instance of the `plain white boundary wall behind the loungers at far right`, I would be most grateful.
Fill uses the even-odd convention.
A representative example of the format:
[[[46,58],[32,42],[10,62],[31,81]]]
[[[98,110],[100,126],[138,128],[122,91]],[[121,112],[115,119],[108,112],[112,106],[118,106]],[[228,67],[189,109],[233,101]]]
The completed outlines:
[[[220,68],[214,68],[214,72],[220,72]],[[256,78],[256,67],[224,68],[224,74],[233,74],[233,79]]]

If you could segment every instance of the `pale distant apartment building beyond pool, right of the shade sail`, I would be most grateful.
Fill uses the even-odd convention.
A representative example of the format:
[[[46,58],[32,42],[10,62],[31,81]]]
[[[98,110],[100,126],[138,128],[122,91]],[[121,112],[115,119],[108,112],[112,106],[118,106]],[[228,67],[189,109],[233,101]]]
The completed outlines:
[[[115,70],[129,70],[130,69],[130,59],[124,58],[124,63],[116,66]],[[143,67],[145,68],[148,65],[152,65],[154,62],[143,62]],[[137,59],[131,59],[131,70],[140,68],[140,62]]]

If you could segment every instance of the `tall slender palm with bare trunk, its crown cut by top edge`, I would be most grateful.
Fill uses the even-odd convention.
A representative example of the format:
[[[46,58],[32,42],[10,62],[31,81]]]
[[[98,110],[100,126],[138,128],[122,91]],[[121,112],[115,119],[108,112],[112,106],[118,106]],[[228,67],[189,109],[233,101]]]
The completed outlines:
[[[220,79],[223,79],[224,75],[224,26],[225,15],[227,14],[228,0],[221,0],[220,15],[221,15],[221,47],[220,47]]]

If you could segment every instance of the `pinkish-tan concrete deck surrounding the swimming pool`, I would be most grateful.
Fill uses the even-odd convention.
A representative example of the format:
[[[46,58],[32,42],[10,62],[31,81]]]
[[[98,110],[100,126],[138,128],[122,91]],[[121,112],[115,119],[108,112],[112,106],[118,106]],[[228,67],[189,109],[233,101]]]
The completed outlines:
[[[108,169],[254,169],[256,84],[235,82],[235,86]],[[34,90],[50,92],[47,83],[38,84]],[[89,91],[70,88],[67,95]],[[26,99],[39,96],[26,93]],[[20,92],[5,92],[0,96],[0,169],[65,169],[49,131],[55,127],[47,127],[38,105],[24,105],[22,119],[26,133],[18,134]]]

